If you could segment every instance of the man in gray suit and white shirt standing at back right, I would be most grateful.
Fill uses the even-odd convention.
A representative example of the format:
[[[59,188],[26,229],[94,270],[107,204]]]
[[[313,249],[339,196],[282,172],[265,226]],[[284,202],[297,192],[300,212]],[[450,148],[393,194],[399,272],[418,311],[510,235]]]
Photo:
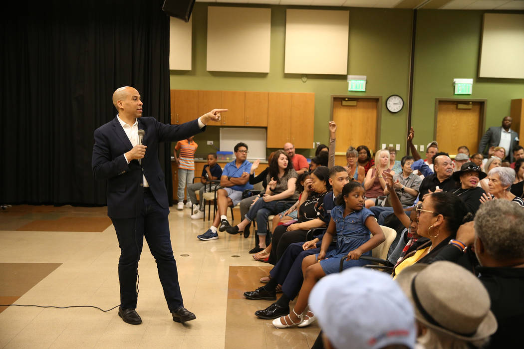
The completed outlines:
[[[506,159],[514,162],[513,150],[519,145],[519,135],[514,130],[511,130],[512,121],[513,119],[510,116],[506,116],[502,119],[501,127],[493,126],[488,128],[484,136],[482,136],[481,143],[478,145],[478,152],[486,156],[489,148],[503,147],[506,150]]]

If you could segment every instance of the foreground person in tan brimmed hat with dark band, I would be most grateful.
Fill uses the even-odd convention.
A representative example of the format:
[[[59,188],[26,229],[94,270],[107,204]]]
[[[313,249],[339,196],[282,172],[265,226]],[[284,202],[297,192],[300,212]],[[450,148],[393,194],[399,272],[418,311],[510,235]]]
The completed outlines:
[[[397,278],[415,310],[417,348],[483,347],[497,330],[478,278],[447,261],[416,264]]]

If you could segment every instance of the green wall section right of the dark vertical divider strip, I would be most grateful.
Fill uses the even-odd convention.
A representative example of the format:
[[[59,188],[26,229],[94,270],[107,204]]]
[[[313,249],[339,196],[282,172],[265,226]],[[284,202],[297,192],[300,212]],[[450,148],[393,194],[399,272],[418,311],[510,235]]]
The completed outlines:
[[[435,98],[487,99],[486,128],[499,126],[509,115],[511,99],[524,98],[522,79],[477,77],[483,13],[419,10],[413,75],[414,143],[428,144],[433,139]],[[473,94],[454,96],[453,78],[473,78]]]

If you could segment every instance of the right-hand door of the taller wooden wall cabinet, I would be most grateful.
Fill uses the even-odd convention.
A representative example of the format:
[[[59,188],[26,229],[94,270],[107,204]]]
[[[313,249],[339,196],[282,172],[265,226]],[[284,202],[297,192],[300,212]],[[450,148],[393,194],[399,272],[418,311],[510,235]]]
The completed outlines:
[[[313,147],[315,94],[293,93],[291,96],[290,142],[295,148]]]

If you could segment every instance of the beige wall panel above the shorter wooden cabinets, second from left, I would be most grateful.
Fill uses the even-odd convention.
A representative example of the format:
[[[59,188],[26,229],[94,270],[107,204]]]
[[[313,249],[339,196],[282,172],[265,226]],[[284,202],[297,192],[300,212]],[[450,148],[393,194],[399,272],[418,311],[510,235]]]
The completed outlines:
[[[271,9],[208,7],[208,71],[269,73]]]

